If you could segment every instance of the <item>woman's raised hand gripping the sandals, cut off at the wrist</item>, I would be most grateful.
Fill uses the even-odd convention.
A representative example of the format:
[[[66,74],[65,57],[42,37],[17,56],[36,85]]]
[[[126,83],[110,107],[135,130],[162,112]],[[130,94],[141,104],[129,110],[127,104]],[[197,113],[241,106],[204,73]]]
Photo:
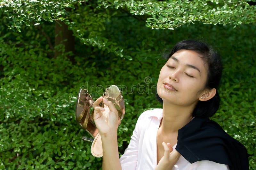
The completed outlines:
[[[103,101],[105,107],[100,107],[100,102]],[[108,133],[116,133],[120,119],[118,112],[111,101],[100,96],[92,105],[94,108],[93,119],[100,131],[100,135]]]

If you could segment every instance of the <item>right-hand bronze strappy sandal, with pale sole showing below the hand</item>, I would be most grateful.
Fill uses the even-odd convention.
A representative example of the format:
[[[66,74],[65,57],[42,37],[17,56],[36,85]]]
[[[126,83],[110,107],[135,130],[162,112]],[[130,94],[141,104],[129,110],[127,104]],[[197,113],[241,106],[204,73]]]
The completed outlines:
[[[106,92],[103,94],[103,97],[108,99],[114,104],[114,106],[116,107],[116,110],[118,111],[118,117],[120,118],[120,121],[121,121],[125,113],[122,91],[119,90],[116,85],[111,85],[109,88],[106,89]],[[100,106],[104,107],[103,102],[100,103]],[[92,142],[91,153],[93,156],[98,158],[102,157],[103,155],[102,142],[101,142],[101,137],[99,132]]]

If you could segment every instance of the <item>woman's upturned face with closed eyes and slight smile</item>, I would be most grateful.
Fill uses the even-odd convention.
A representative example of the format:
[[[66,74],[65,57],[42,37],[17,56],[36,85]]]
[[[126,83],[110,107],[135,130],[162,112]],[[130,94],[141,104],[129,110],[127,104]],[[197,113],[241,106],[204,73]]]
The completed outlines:
[[[192,50],[179,50],[162,67],[157,94],[163,102],[180,106],[196,104],[204,93],[207,68],[199,54]]]

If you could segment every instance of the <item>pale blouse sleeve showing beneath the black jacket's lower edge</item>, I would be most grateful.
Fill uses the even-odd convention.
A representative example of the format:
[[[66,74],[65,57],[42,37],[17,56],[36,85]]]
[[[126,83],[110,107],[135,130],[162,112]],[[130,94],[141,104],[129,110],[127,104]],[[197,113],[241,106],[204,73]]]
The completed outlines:
[[[202,160],[198,161],[198,166],[196,170],[205,170],[205,169],[211,169],[211,170],[229,170],[228,165],[225,164],[219,164],[213,161],[209,160]]]

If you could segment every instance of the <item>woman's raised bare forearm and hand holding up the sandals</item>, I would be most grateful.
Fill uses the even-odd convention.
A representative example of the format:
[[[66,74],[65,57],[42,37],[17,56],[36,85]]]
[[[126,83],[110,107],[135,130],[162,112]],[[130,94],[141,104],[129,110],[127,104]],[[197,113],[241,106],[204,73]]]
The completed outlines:
[[[104,103],[104,108],[100,107],[100,102]],[[116,107],[102,96],[93,103],[92,107],[94,108],[93,119],[100,131],[102,141],[102,169],[122,170],[117,146],[117,127],[120,119]]]

